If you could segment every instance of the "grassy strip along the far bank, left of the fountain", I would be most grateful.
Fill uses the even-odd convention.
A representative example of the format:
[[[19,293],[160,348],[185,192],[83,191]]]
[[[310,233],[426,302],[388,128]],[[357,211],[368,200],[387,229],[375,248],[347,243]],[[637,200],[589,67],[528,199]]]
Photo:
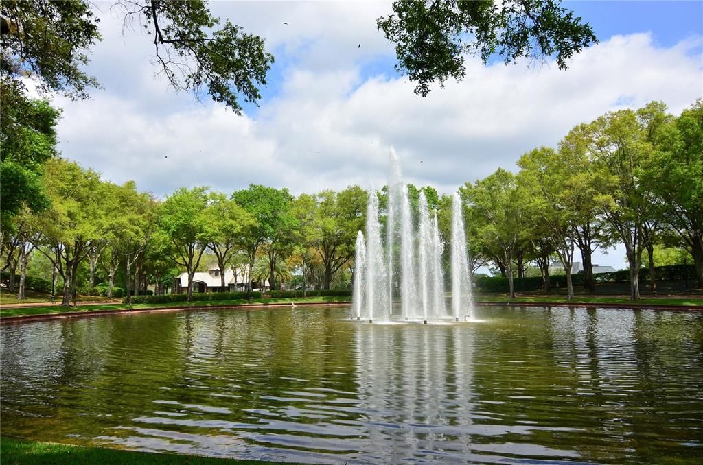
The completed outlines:
[[[27,315],[54,315],[57,313],[82,313],[110,310],[140,310],[143,308],[207,308],[221,306],[247,306],[247,305],[272,305],[276,303],[325,303],[325,302],[349,302],[347,296],[321,296],[321,297],[295,297],[288,299],[236,299],[231,301],[200,301],[200,302],[170,302],[170,303],[136,303],[125,305],[124,303],[103,303],[96,305],[84,305],[79,307],[61,306],[39,306],[39,307],[15,307],[1,308],[0,318],[27,316]]]

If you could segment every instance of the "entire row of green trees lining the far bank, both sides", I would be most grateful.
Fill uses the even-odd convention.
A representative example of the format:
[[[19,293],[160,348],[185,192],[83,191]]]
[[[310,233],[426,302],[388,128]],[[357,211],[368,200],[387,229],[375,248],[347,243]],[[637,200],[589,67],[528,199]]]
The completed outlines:
[[[25,145],[51,151],[58,113],[46,103],[36,108],[53,114],[53,123],[45,125],[43,138],[34,131],[36,140]],[[498,169],[459,190],[471,268],[493,266],[508,277],[511,295],[512,278],[522,277],[531,263],[548,289],[549,266],[557,258],[573,296],[576,251],[592,291],[593,251],[617,243],[626,249],[632,299],[640,295],[645,251],[654,269],[656,244],[688,251],[703,284],[703,100],[678,117],[658,102],[607,113],[574,127],[557,148],[527,152],[517,165],[517,173]],[[129,296],[148,284],[159,292],[186,271],[190,299],[193,275],[204,261],[217,263],[223,290],[227,268],[242,273],[240,282],[247,270],[248,284],[266,279],[272,289],[290,278],[290,270],[303,287],[330,289],[335,278],[353,279],[354,242],[368,201],[358,186],[297,197],[262,185],[230,195],[180,188],[160,201],[132,182],[103,181],[51,154],[38,172],[37,196],[24,203],[20,197],[18,212],[3,217],[3,269],[11,277],[19,270],[20,297],[32,256],[56,270],[65,305],[77,287],[93,287],[96,275],[105,277],[108,294],[117,279]],[[421,190],[449,238],[451,197]],[[420,189],[409,185],[408,192],[417,216]],[[385,191],[378,195],[383,209]],[[82,269],[86,283],[79,279]]]

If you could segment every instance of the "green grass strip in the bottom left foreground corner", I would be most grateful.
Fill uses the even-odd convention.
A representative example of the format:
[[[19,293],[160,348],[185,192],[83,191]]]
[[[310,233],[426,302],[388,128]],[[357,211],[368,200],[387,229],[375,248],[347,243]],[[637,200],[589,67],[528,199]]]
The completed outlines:
[[[76,445],[41,443],[24,439],[0,438],[0,459],[3,465],[34,464],[176,464],[176,465],[228,465],[228,464],[273,464],[276,462],[237,459],[215,459],[212,457],[153,454],[129,450],[81,447]]]

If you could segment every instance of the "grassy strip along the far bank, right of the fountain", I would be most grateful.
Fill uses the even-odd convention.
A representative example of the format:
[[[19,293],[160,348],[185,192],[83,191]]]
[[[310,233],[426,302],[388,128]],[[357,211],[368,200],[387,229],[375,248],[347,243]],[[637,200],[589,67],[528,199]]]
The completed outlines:
[[[579,297],[567,299],[566,296],[518,296],[509,299],[508,294],[479,294],[475,296],[477,302],[505,302],[505,303],[621,303],[624,306],[695,306],[703,307],[702,296],[687,297],[643,297],[638,301],[631,301],[628,297]]]

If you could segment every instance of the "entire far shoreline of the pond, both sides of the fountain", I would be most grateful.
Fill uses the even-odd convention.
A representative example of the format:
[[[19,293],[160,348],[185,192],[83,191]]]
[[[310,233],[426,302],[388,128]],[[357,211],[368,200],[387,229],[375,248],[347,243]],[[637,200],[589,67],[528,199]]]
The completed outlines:
[[[95,317],[105,315],[132,315],[140,313],[166,313],[186,310],[243,310],[243,309],[261,309],[261,308],[280,308],[294,307],[294,302],[276,302],[276,303],[240,303],[240,304],[223,304],[212,306],[160,306],[147,308],[115,308],[114,310],[85,310],[64,313],[39,313],[37,315],[15,315],[0,317],[0,325],[56,320],[61,318],[77,318],[77,317]],[[328,301],[328,302],[295,302],[299,306],[343,306],[350,305],[349,301]],[[611,302],[520,302],[520,301],[475,301],[476,306],[525,306],[525,307],[565,307],[565,308],[622,308],[627,310],[673,310],[673,311],[697,311],[703,312],[703,306],[696,305],[671,305],[671,304],[656,304],[656,303],[611,303]]]

